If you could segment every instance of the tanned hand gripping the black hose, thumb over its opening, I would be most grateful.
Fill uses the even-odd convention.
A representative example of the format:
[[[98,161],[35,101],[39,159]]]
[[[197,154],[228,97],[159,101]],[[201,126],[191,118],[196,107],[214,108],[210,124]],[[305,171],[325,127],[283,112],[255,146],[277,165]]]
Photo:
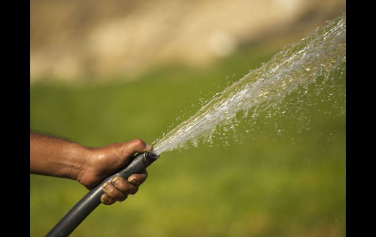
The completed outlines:
[[[141,139],[114,143],[101,148],[91,148],[77,180],[86,188],[92,189],[109,174],[128,164],[129,159],[136,152],[151,152],[152,149]],[[146,177],[146,170],[130,175],[127,180],[121,176],[114,177],[110,183],[106,182],[102,186],[104,194],[101,197],[101,202],[111,205],[116,201],[124,201],[128,194],[135,194],[138,191],[138,187],[146,180]]]

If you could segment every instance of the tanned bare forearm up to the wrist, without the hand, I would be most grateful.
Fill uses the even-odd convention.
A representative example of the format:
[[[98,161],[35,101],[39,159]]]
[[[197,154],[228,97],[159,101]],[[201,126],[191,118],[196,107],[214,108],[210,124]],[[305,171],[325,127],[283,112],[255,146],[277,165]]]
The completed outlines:
[[[78,143],[30,132],[30,173],[77,179],[87,151]]]

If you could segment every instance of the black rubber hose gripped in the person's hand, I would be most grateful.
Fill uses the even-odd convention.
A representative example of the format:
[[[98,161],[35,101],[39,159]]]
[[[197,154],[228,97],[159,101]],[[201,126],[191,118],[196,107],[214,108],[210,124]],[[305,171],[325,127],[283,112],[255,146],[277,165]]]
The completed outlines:
[[[97,187],[90,190],[84,197],[47,233],[46,237],[66,237],[101,204],[103,194],[102,185],[111,182],[114,176],[120,175],[127,179],[133,173],[139,173],[146,169],[159,157],[155,153],[142,153],[134,157],[126,168],[105,178]]]

